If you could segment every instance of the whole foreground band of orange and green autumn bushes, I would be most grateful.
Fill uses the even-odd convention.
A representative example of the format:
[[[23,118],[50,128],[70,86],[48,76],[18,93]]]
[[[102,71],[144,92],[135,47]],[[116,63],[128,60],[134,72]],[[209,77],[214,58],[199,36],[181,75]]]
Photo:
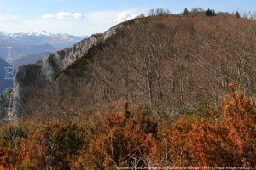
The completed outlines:
[[[2,169],[249,168],[256,164],[255,100],[235,91],[218,107],[178,118],[145,105],[49,122],[17,121],[0,129]],[[90,117],[90,118],[89,118]]]

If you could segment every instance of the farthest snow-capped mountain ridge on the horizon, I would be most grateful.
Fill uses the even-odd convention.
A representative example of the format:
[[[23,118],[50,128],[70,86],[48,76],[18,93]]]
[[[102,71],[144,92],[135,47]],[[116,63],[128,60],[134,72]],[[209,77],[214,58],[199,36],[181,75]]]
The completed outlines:
[[[19,43],[22,45],[49,44],[57,49],[69,48],[84,37],[69,34],[53,34],[46,31],[28,31],[23,33],[0,32],[0,41]]]

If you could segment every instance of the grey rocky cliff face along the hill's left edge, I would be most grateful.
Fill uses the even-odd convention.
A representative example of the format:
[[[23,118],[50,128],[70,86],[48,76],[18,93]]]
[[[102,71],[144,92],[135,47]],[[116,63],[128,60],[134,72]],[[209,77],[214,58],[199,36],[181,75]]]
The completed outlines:
[[[14,111],[17,116],[22,116],[22,105],[32,93],[31,88],[41,88],[44,82],[54,82],[55,77],[74,61],[83,57],[90,48],[98,43],[105,42],[113,36],[116,30],[123,25],[110,28],[103,34],[96,34],[75,44],[73,48],[66,48],[54,54],[45,56],[36,64],[20,66],[15,75]]]

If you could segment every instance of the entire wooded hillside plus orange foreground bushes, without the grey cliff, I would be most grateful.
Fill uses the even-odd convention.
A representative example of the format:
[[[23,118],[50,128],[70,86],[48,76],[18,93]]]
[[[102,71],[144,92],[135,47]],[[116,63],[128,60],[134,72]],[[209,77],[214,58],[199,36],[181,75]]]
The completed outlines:
[[[255,20],[157,11],[53,82],[22,82],[20,119],[0,125],[0,169],[256,168]]]

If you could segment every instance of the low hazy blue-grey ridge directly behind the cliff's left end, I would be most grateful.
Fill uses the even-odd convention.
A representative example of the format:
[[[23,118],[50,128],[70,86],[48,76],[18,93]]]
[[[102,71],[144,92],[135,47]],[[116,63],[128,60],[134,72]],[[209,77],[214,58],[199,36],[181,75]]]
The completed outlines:
[[[42,52],[38,54],[28,54],[19,59],[13,60],[12,62],[10,62],[10,65],[14,66],[15,68],[18,68],[21,65],[33,64],[33,63],[36,63],[39,59],[43,59],[45,55],[49,55],[49,54],[51,53]]]

